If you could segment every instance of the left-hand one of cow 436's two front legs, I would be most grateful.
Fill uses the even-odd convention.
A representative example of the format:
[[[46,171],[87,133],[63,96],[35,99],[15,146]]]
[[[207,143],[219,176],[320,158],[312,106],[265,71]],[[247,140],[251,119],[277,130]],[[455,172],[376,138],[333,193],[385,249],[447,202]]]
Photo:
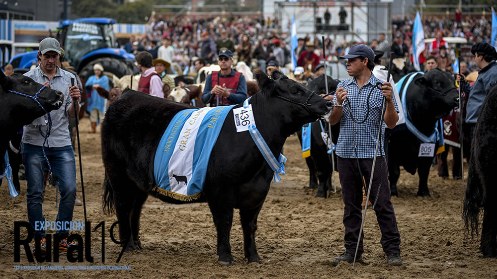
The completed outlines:
[[[230,246],[230,231],[233,223],[233,207],[222,206],[221,203],[209,205],[217,230],[218,263],[223,266],[234,265]]]

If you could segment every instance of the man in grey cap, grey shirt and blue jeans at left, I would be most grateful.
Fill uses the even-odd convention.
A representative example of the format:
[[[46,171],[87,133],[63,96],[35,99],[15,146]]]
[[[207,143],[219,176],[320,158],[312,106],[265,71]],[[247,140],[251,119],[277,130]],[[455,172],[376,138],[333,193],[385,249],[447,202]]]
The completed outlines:
[[[72,221],[76,199],[76,163],[69,137],[68,116],[75,118],[79,112],[80,89],[78,86],[71,86],[71,78],[75,78],[72,73],[57,67],[60,53],[57,39],[50,37],[43,39],[38,51],[38,56],[41,59],[40,65],[24,74],[34,81],[64,94],[64,105],[58,110],[50,112],[52,129],[46,143],[44,143],[44,136],[49,132],[50,126],[48,114],[24,126],[22,137],[21,153],[26,170],[28,219],[33,229],[38,228],[38,230],[34,230],[35,242],[39,242],[42,255],[46,253],[46,231],[44,227],[36,226],[36,222],[45,221],[42,209],[42,193],[44,172],[48,171],[49,166],[42,151],[44,144],[46,158],[59,181],[61,199],[56,221]],[[77,102],[77,111],[75,111],[73,99]],[[72,245],[72,242],[67,241],[69,231],[62,228],[57,230],[57,234],[60,239],[59,250],[67,251],[67,248]]]

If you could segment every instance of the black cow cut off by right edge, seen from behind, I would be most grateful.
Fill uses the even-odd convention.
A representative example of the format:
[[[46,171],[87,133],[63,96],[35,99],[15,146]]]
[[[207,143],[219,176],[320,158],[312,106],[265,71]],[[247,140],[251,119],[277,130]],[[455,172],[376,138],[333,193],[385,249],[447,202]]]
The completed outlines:
[[[476,123],[468,170],[468,186],[464,197],[465,234],[478,235],[480,214],[483,215],[479,252],[484,258],[497,257],[497,85],[490,89]],[[482,210],[483,209],[483,210]]]

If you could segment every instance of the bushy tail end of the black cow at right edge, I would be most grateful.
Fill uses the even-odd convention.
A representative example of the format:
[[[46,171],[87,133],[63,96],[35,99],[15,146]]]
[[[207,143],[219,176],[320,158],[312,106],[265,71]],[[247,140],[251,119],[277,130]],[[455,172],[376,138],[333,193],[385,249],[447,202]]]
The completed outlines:
[[[466,196],[463,202],[464,219],[464,236],[471,235],[473,239],[475,234],[478,238],[478,223],[480,213],[482,212],[483,201],[485,200],[485,191],[480,182],[478,172],[475,170],[474,162],[470,160],[468,171],[468,187],[466,188]]]

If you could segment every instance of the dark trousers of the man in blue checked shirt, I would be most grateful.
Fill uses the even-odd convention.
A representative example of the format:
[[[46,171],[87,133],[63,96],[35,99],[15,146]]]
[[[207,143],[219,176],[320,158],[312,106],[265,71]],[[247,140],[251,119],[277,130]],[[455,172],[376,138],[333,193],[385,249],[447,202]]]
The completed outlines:
[[[345,250],[354,254],[359,237],[359,230],[362,221],[362,178],[359,177],[357,159],[337,157],[338,173],[342,187],[342,198],[344,204],[343,225],[345,226]],[[383,163],[380,173],[380,162]],[[366,187],[369,185],[371,177],[371,167],[373,158],[359,159],[359,165],[366,180]],[[381,230],[380,243],[385,254],[400,254],[401,238],[397,229],[394,207],[390,201],[390,186],[388,184],[387,164],[383,156],[377,157],[373,184],[371,186],[370,201],[374,202],[378,191],[378,184],[381,177],[381,189],[378,202],[375,206],[376,220]],[[358,255],[364,252],[364,233],[361,234]]]

